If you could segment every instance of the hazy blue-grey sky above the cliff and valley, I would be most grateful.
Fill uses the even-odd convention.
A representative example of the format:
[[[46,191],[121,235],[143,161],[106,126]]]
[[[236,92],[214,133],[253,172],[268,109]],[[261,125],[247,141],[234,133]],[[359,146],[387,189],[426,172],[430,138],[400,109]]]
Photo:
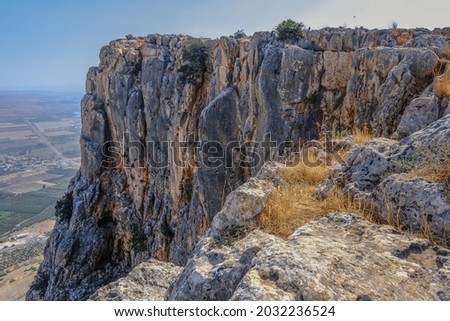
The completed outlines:
[[[0,90],[84,89],[100,48],[126,34],[215,38],[272,30],[292,18],[311,28],[450,26],[449,0],[0,0]]]

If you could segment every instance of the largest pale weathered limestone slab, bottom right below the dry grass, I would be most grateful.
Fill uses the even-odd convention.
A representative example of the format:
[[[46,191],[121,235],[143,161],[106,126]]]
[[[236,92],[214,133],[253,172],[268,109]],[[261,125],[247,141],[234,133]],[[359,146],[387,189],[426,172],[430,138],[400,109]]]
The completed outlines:
[[[449,255],[358,216],[329,215],[259,251],[232,299],[445,300]]]

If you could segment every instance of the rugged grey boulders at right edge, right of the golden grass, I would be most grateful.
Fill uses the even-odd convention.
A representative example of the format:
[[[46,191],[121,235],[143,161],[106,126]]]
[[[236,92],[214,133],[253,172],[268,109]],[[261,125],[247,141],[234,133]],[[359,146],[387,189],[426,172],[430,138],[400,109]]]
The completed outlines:
[[[433,180],[433,172],[448,175],[449,139],[450,116],[445,116],[399,142],[377,138],[355,146],[348,161],[332,169],[316,196],[323,199],[342,190],[374,203],[382,222],[431,232],[450,244],[449,186]]]

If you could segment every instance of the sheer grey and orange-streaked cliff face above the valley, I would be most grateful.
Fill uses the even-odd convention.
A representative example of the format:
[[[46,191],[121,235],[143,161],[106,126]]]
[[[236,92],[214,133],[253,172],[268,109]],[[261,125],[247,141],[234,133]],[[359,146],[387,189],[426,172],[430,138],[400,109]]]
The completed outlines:
[[[270,32],[201,39],[207,62],[194,83],[178,72],[190,37],[103,47],[81,103],[74,210],[47,245],[46,289],[28,298],[86,299],[149,258],[184,265],[226,196],[264,161],[325,130],[396,133],[431,85],[450,35],[405,33],[405,46],[390,30],[365,29],[310,31],[297,43]]]

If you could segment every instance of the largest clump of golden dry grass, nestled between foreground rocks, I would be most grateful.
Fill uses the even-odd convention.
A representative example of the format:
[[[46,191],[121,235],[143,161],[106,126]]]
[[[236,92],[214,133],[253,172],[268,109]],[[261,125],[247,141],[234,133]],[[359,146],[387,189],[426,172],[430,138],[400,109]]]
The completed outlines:
[[[266,207],[259,217],[260,227],[269,233],[288,237],[298,227],[330,212],[352,212],[372,219],[373,208],[364,208],[342,192],[329,195],[324,201],[313,196],[330,169],[331,166],[326,165],[309,167],[303,162],[285,168],[282,176],[286,184],[279,186],[267,199]]]

